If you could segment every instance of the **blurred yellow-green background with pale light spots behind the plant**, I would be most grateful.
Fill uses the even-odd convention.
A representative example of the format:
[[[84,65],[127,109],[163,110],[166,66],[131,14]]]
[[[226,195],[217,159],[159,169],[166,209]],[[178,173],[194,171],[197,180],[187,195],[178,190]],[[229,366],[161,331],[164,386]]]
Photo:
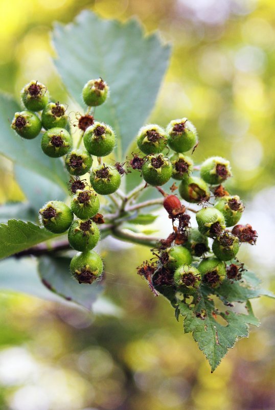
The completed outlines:
[[[18,96],[26,82],[38,79],[64,101],[49,33],[53,21],[71,21],[85,8],[120,20],[135,15],[147,32],[159,29],[172,42],[170,68],[150,120],[166,125],[186,116],[200,137],[197,161],[213,154],[231,160],[231,191],[246,203],[242,221],[259,232],[256,246],[243,246],[242,259],[274,288],[275,3],[2,0],[0,88]],[[0,202],[22,199],[3,158],[0,172]],[[153,298],[135,275],[148,251],[106,241],[103,252],[105,294],[118,306],[109,313],[106,306],[89,314],[0,293],[1,409],[275,408],[272,301],[253,302],[260,329],[252,329],[211,375],[169,304]]]

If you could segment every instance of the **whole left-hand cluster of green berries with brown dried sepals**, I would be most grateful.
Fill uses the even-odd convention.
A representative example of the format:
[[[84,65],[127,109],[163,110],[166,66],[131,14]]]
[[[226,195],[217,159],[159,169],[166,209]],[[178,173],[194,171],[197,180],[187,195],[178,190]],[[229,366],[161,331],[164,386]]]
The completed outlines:
[[[90,107],[101,105],[107,98],[108,85],[102,79],[90,80],[83,88],[83,100]],[[33,139],[44,129],[41,148],[45,154],[57,158],[65,155],[67,171],[76,176],[71,184],[75,194],[68,207],[61,201],[50,201],[40,209],[40,220],[44,227],[56,234],[68,230],[70,245],[80,251],[71,262],[71,271],[79,283],[92,283],[102,274],[103,263],[93,249],[100,231],[95,221],[100,203],[97,193],[102,195],[116,191],[120,186],[120,173],[98,165],[90,171],[90,183],[94,190],[85,189],[87,184],[79,176],[88,172],[93,164],[91,155],[97,157],[110,154],[116,143],[113,130],[106,124],[94,121],[87,114],[79,120],[86,149],[73,149],[66,108],[59,102],[49,102],[49,92],[44,84],[31,81],[21,92],[25,111],[16,112],[11,127],[23,138]],[[38,112],[41,111],[41,115]],[[84,124],[84,126],[83,126]],[[74,220],[74,215],[79,218]]]

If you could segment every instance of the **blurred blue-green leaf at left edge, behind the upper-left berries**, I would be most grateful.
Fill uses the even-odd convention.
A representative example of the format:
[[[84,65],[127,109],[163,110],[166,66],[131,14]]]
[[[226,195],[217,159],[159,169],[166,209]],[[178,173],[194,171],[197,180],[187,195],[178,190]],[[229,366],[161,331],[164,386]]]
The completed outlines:
[[[0,154],[42,175],[67,192],[67,174],[60,158],[50,158],[43,153],[39,136],[34,140],[24,140],[11,129],[16,111],[21,111],[20,106],[10,96],[0,94]]]

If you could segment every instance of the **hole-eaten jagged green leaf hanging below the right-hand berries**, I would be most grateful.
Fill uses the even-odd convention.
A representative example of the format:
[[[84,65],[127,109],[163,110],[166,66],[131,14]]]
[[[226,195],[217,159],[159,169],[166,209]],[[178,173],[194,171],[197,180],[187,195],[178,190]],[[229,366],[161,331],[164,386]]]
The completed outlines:
[[[184,316],[184,331],[191,332],[198,347],[209,360],[211,371],[219,365],[228,349],[232,348],[240,337],[247,337],[249,324],[258,326],[249,301],[246,303],[248,314],[233,311],[220,312],[215,308],[209,289],[201,287],[200,299],[191,307],[179,302],[178,308]],[[225,322],[221,325],[216,319],[220,316]]]

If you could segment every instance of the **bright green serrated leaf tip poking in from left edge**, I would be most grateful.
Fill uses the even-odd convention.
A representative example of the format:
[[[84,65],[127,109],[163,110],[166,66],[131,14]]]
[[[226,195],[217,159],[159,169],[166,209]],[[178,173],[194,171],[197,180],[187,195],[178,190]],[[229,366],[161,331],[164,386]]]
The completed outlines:
[[[56,237],[56,234],[32,223],[11,219],[0,224],[0,259],[28,249],[37,243]]]

